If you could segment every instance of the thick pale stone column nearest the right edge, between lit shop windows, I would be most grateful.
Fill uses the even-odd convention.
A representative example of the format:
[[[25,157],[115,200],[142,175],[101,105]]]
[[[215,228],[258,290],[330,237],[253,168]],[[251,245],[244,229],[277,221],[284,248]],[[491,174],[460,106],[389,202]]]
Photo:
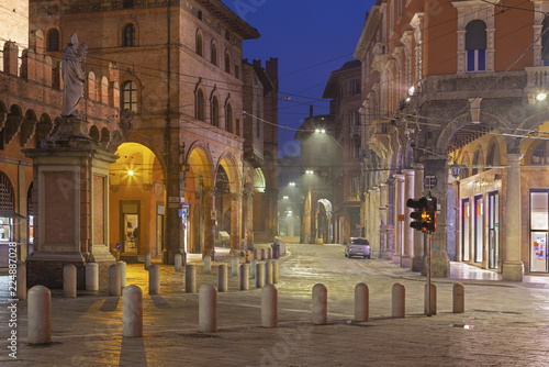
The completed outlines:
[[[520,159],[522,154],[506,154],[507,192],[505,202],[505,260],[503,280],[523,281],[520,262]]]

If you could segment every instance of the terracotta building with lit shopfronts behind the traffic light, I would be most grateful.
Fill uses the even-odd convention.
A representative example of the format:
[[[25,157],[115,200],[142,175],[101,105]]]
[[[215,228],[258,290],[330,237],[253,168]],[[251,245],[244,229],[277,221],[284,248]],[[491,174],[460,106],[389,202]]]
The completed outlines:
[[[408,198],[438,199],[434,275],[466,262],[520,281],[548,273],[549,1],[378,0],[362,65],[366,234],[424,269]],[[457,169],[460,169],[458,173]]]

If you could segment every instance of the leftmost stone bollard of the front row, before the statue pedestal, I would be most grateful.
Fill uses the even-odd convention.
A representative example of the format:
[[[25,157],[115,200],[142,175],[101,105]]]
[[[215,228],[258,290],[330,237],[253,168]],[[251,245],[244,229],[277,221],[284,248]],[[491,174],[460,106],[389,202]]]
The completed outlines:
[[[29,344],[52,343],[52,292],[44,286],[29,290]]]

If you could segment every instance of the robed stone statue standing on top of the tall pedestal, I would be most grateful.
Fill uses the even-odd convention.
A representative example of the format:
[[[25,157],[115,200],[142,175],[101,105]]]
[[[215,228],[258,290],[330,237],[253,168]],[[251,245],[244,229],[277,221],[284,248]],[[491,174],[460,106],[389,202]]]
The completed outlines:
[[[78,36],[70,35],[70,42],[65,48],[61,58],[63,70],[63,109],[61,118],[80,116],[77,110],[83,96],[86,71],[82,62],[86,58],[87,45],[82,43],[78,48]],[[79,51],[77,54],[77,49]]]

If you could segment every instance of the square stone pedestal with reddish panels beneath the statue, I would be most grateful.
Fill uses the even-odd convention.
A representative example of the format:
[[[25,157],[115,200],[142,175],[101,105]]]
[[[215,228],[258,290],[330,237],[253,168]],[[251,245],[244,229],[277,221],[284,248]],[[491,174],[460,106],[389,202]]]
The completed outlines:
[[[77,268],[78,289],[86,289],[88,262],[99,265],[99,286],[108,287],[109,165],[114,155],[87,134],[80,119],[56,119],[54,135],[36,149],[33,159],[35,208],[34,252],[27,257],[29,287],[63,288],[63,267]]]

